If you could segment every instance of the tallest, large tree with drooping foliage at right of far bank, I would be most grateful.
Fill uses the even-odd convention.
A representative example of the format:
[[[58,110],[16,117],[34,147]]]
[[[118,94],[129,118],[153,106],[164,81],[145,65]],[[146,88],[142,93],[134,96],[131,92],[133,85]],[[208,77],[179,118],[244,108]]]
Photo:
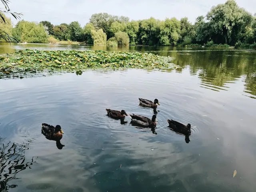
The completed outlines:
[[[252,15],[239,8],[234,0],[218,4],[208,12],[206,18],[212,28],[212,38],[216,43],[234,45],[241,32],[252,22]]]

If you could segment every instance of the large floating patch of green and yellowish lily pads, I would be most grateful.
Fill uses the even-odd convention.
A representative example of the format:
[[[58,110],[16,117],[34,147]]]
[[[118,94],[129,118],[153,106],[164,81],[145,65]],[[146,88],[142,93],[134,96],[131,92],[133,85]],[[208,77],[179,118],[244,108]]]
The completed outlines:
[[[173,58],[142,52],[75,50],[20,50],[0,55],[0,78],[31,76],[40,72],[76,72],[88,69],[173,68]],[[32,75],[33,76],[33,75]]]

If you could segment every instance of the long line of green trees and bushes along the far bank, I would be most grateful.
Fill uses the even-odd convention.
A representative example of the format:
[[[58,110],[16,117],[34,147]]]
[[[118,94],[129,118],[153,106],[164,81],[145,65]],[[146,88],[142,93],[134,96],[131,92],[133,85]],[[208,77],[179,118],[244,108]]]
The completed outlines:
[[[8,21],[8,19],[6,18]],[[82,27],[77,21],[53,25],[21,20],[14,28],[0,23],[6,32],[20,42],[49,42],[51,39],[78,41],[86,44],[160,45],[176,46],[200,44],[256,45],[256,16],[240,8],[235,0],[218,4],[192,24],[188,18],[132,20],[125,16],[97,13]],[[255,46],[256,48],[256,46]]]

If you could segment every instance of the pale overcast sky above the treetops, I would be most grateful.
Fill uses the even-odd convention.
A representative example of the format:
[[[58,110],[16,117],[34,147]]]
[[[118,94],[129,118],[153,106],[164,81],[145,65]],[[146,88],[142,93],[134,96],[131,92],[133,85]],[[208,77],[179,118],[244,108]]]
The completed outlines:
[[[130,20],[147,19],[151,16],[165,18],[188,17],[194,23],[197,16],[207,12],[226,0],[10,0],[10,9],[21,12],[22,19],[40,22],[48,20],[52,24],[78,21],[84,26],[92,14],[107,12],[118,16],[128,16]],[[256,0],[236,0],[238,6],[248,12],[256,12]],[[14,24],[17,23],[12,18]]]

